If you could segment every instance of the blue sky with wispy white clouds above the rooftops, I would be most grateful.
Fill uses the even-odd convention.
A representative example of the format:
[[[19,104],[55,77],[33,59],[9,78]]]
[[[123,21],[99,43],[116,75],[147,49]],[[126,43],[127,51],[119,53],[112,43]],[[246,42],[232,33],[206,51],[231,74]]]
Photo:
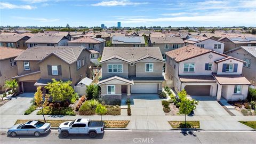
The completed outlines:
[[[1,0],[1,26],[256,26],[256,0]]]

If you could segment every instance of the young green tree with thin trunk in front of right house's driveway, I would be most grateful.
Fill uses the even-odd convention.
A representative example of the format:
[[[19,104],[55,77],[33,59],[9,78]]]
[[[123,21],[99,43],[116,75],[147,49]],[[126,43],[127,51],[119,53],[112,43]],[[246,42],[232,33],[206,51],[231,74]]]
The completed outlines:
[[[182,90],[178,93],[179,95],[179,112],[178,115],[185,115],[185,127],[187,127],[187,118],[186,116],[191,113],[194,109],[196,109],[196,105],[198,105],[198,101],[189,100],[187,98],[187,92]]]

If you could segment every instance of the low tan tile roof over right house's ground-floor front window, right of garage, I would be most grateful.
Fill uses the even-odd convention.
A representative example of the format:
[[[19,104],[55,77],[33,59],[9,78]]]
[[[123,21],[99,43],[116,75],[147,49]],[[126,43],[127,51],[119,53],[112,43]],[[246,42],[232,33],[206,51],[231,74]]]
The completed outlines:
[[[220,85],[250,85],[251,83],[242,75],[212,74]]]

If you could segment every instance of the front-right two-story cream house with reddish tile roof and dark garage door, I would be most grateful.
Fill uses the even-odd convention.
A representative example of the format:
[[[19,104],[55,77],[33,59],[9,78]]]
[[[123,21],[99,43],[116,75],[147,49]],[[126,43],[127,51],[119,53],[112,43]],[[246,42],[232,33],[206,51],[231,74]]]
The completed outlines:
[[[220,100],[246,99],[250,82],[243,63],[228,55],[194,45],[166,52],[166,79],[176,92],[211,95]]]

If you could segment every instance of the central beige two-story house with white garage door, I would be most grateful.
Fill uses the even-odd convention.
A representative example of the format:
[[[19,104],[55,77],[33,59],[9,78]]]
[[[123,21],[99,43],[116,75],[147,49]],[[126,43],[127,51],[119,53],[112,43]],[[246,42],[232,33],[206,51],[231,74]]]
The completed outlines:
[[[98,82],[101,95],[121,98],[122,94],[162,91],[164,62],[159,47],[105,47]]]

